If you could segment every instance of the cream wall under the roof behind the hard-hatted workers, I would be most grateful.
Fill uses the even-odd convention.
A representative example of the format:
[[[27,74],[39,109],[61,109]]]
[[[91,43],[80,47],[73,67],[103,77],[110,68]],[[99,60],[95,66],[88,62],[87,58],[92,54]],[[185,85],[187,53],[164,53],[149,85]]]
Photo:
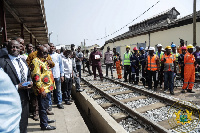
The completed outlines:
[[[196,36],[197,36],[197,45],[200,45],[200,22],[197,22],[196,24]],[[158,43],[163,45],[163,48],[165,48],[168,45],[171,45],[173,42],[177,46],[180,44],[180,40],[184,39],[187,41],[187,44],[193,43],[193,24],[188,24],[180,27],[171,28],[164,31],[158,31],[154,33],[150,33],[150,45],[154,46]],[[106,44],[106,46],[103,49],[103,53],[106,52],[107,46],[110,46],[110,49],[112,50],[113,47],[121,46],[121,55],[125,53],[126,45],[130,44],[137,44],[137,43],[144,43],[146,41],[146,46],[149,46],[149,35],[141,35],[136,36],[133,38],[120,40],[114,43]],[[131,45],[131,50],[135,47],[135,45]]]

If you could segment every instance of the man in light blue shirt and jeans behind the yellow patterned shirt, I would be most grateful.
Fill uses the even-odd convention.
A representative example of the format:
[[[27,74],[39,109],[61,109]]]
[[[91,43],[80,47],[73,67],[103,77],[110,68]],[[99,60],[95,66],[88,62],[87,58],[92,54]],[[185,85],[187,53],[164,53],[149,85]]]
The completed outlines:
[[[56,89],[53,91],[54,102],[57,103],[57,107],[59,109],[64,109],[62,105],[62,92],[61,92],[61,82],[64,81],[64,67],[62,62],[62,57],[60,54],[55,52],[55,47],[53,43],[50,43],[50,56],[52,61],[55,63],[55,67],[53,67],[52,73],[56,83]]]

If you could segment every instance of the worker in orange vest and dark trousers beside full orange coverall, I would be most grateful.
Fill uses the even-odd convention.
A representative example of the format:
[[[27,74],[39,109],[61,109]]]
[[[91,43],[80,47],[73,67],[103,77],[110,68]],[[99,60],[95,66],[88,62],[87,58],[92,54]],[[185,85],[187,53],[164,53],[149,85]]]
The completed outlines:
[[[176,56],[171,53],[171,46],[165,48],[166,54],[161,58],[164,66],[164,92],[169,88],[170,94],[174,95],[174,73],[176,73]]]

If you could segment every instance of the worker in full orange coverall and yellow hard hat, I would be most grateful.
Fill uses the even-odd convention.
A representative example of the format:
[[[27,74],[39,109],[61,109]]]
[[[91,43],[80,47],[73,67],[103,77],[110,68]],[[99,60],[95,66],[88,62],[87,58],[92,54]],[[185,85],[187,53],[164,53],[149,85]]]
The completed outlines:
[[[192,54],[193,53],[193,46],[191,44],[189,44],[187,46],[187,53],[184,56],[184,83],[183,83],[183,87],[182,87],[182,93],[185,93],[185,89],[187,88],[188,84],[188,90],[187,92],[190,93],[195,93],[194,91],[192,91],[192,88],[194,86],[194,81],[195,81],[195,57]]]

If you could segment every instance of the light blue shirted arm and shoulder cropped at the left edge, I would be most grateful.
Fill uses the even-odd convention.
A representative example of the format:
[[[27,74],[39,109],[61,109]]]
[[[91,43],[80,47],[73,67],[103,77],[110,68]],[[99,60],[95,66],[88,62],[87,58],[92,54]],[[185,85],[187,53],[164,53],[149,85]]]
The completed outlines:
[[[19,133],[21,100],[10,77],[0,68],[0,132]]]

